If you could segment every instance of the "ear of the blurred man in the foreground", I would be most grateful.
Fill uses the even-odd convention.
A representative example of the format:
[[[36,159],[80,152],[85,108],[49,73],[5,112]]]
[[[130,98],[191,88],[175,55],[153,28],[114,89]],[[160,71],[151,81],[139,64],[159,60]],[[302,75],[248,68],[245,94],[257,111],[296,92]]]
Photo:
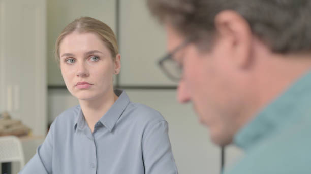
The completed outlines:
[[[248,22],[233,10],[224,10],[215,17],[217,35],[224,39],[234,65],[245,67],[251,62],[252,31]]]

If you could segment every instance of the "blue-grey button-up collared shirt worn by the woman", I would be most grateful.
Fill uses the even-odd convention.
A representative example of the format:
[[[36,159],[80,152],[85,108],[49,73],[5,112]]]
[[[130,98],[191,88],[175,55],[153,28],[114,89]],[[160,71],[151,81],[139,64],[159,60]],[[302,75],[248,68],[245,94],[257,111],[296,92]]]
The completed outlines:
[[[80,106],[61,113],[20,173],[178,173],[161,114],[115,93],[93,133]]]

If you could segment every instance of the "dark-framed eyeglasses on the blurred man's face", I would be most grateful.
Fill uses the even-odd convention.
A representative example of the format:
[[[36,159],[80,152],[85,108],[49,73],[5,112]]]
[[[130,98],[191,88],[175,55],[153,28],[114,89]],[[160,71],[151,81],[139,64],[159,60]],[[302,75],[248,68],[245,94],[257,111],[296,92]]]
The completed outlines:
[[[173,81],[179,81],[182,76],[182,66],[173,59],[176,52],[187,46],[191,39],[187,39],[177,46],[173,51],[167,53],[163,58],[158,61],[162,71]]]

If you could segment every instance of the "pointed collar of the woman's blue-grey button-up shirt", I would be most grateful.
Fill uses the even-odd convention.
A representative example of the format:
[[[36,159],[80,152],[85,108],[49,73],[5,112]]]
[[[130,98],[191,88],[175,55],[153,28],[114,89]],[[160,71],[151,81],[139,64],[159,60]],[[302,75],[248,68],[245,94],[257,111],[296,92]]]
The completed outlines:
[[[110,132],[130,103],[130,98],[125,91],[116,89],[114,90],[114,93],[118,96],[118,99],[114,102],[106,114],[99,120]],[[74,130],[77,128],[83,129],[85,125],[85,119],[80,108],[74,123]]]

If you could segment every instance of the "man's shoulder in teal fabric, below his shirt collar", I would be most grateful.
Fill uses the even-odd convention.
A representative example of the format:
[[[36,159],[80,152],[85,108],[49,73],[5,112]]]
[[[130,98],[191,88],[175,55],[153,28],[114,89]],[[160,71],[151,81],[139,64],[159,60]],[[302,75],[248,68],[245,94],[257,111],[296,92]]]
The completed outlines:
[[[232,170],[235,173],[308,173],[311,171],[311,122],[286,126],[245,153]]]

